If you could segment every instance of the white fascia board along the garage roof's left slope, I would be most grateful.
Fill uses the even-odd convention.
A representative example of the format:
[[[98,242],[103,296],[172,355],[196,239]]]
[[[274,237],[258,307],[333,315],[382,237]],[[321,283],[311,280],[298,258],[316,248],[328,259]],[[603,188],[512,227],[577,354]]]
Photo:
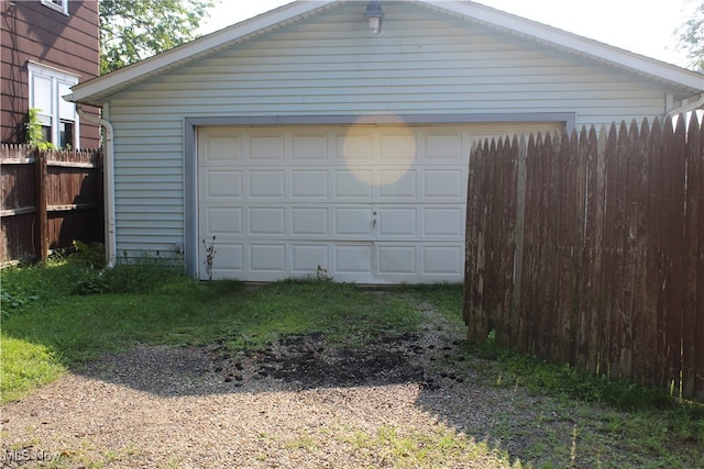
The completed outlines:
[[[276,31],[341,3],[344,3],[344,1],[299,0],[288,3],[268,13],[224,27],[183,46],[77,85],[72,88],[73,98],[76,102],[100,105],[105,97],[118,92],[132,83],[182,67],[205,56],[216,54],[223,48],[250,41],[252,37]]]

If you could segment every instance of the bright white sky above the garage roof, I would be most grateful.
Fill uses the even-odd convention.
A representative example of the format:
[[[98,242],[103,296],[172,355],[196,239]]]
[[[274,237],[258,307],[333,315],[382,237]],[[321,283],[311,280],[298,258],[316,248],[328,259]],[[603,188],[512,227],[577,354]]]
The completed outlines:
[[[675,31],[700,0],[475,0],[612,46],[686,66]],[[289,3],[290,0],[220,0],[199,30],[207,34]],[[382,0],[382,7],[384,2]],[[388,19],[387,19],[388,20]]]

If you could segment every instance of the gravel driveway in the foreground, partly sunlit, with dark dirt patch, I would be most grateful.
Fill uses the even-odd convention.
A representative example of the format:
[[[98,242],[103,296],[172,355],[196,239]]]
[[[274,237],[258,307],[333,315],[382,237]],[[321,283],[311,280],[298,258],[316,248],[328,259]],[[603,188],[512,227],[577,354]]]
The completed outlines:
[[[103,357],[2,407],[4,467],[492,468],[530,461],[527,443],[544,437],[536,422],[557,415],[558,404],[487,386],[477,373],[492,365],[461,350],[464,331],[426,314],[420,333],[383,337],[364,349],[332,350],[322,336],[307,335],[234,356],[215,344]],[[551,423],[566,447],[573,426],[569,418]],[[415,449],[404,454],[405,444]],[[559,466],[574,464],[565,458]]]

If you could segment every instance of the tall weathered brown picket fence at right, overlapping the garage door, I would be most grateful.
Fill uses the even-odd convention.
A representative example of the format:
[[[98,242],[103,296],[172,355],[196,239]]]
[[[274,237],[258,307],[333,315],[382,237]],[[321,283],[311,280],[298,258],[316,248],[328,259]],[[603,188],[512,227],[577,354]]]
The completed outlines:
[[[469,338],[704,398],[704,126],[475,144]]]

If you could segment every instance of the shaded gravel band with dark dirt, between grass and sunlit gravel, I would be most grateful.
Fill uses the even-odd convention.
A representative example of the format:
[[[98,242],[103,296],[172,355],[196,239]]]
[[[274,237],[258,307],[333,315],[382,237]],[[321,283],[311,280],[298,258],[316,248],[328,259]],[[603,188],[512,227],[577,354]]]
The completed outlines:
[[[290,390],[417,383],[437,389],[439,359],[464,360],[461,339],[438,334],[384,336],[364,347],[333,348],[319,333],[289,335],[257,350],[232,354],[223,342],[208,347],[139,347],[84,365],[77,372],[162,397],[248,391],[266,381]],[[436,376],[437,375],[437,376]]]

